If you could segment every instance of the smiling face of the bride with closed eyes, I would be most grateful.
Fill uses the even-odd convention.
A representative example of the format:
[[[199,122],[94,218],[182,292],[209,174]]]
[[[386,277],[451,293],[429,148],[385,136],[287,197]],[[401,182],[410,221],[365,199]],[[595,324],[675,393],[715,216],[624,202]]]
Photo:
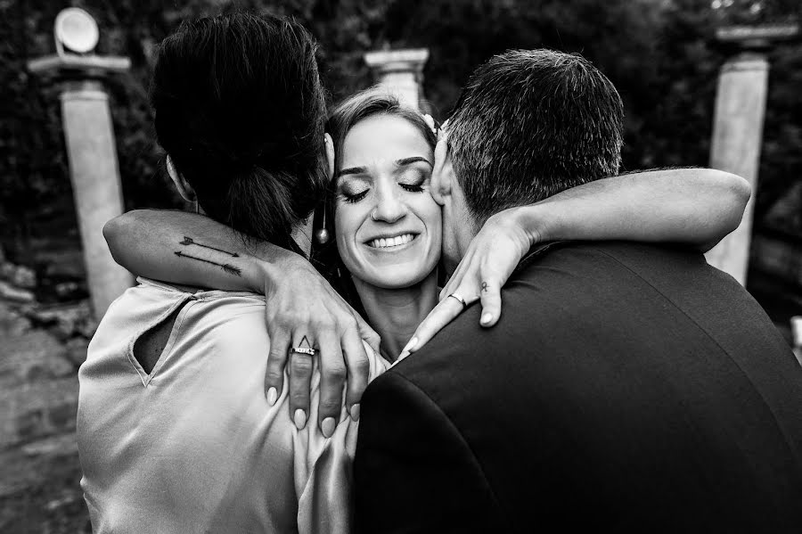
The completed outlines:
[[[356,123],[342,146],[334,227],[343,263],[357,279],[400,289],[437,267],[440,207],[431,198],[434,154],[421,132],[393,115]]]

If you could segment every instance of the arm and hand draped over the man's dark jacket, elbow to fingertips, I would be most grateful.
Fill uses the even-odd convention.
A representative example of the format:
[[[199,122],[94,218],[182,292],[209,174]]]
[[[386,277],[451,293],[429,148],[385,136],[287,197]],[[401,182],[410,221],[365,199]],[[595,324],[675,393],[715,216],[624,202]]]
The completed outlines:
[[[651,170],[596,180],[488,218],[401,357],[481,300],[480,324],[501,316],[501,288],[529,249],[559,240],[686,243],[708,251],[741,224],[749,183],[710,168]]]

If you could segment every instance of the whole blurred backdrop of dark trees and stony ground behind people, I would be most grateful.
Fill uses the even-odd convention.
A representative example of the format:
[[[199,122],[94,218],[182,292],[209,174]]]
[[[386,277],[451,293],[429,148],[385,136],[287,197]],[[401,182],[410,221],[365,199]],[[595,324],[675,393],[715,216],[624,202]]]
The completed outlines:
[[[3,532],[89,531],[73,432],[75,372],[95,319],[64,88],[29,69],[55,53],[53,24],[70,6],[97,21],[94,53],[130,59],[102,83],[124,209],[183,207],[161,168],[147,90],[155,48],[186,18],[233,9],[294,16],[320,41],[332,103],[376,81],[365,53],[425,48],[414,76],[421,107],[441,120],[471,70],[494,53],[582,53],[624,100],[624,170],[634,170],[708,166],[719,71],[739,50],[716,31],[788,28],[802,15],[798,0],[0,0]],[[790,317],[802,315],[802,44],[777,40],[759,52],[769,74],[745,279],[791,343]]]

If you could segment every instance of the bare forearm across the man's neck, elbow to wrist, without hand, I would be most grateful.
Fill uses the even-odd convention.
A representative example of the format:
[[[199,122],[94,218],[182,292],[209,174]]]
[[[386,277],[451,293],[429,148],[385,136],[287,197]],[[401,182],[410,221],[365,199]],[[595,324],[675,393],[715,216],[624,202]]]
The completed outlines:
[[[502,212],[530,243],[631,240],[709,251],[741,224],[749,182],[712,168],[650,170],[596,180]]]

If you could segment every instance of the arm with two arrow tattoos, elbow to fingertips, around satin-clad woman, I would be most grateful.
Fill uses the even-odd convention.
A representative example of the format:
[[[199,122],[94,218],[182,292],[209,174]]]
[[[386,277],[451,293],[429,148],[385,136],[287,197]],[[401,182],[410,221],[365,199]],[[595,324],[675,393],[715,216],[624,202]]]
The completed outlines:
[[[309,413],[312,367],[308,358],[289,357],[289,349],[307,336],[322,361],[318,423],[329,417],[339,420],[344,384],[348,412],[358,414],[352,407],[367,386],[369,368],[362,341],[378,354],[379,336],[307,259],[268,242],[245,242],[227,226],[182,211],[129,211],[106,223],[103,235],[114,259],[136,275],[265,294],[271,341],[265,393],[270,404],[282,391],[284,366],[289,365],[291,416],[303,422],[305,417],[295,417],[296,411]]]

